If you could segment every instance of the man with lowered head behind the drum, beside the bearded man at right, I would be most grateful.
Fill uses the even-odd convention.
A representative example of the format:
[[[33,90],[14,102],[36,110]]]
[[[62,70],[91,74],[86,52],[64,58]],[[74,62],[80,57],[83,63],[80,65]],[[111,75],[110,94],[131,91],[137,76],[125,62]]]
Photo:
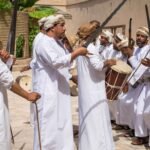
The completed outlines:
[[[118,49],[124,56],[124,61],[128,60],[128,49],[129,42],[128,39],[124,39],[117,44]],[[126,125],[130,128],[129,132],[124,136],[134,136],[134,126],[132,124],[133,114],[134,114],[134,97],[135,92],[132,87],[128,87],[127,85],[123,88],[123,93],[118,98],[118,113],[116,116],[116,123],[118,125]],[[128,115],[126,115],[128,114]],[[121,127],[121,126],[120,126]],[[120,128],[121,129],[121,128]]]

